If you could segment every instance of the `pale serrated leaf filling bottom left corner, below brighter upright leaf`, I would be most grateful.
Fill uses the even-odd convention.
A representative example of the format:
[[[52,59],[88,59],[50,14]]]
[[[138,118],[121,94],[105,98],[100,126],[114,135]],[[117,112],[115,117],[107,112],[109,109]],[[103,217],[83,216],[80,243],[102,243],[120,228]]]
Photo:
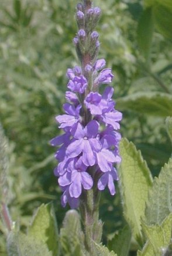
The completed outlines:
[[[44,242],[17,231],[9,233],[7,251],[9,256],[53,256]]]

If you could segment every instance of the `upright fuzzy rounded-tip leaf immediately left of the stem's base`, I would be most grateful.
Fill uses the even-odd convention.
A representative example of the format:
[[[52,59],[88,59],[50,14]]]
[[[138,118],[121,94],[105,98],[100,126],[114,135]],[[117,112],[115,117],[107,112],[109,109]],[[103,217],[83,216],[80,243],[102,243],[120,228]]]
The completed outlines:
[[[87,255],[84,248],[84,234],[81,231],[80,215],[75,210],[69,210],[60,230],[61,249],[64,255]]]

